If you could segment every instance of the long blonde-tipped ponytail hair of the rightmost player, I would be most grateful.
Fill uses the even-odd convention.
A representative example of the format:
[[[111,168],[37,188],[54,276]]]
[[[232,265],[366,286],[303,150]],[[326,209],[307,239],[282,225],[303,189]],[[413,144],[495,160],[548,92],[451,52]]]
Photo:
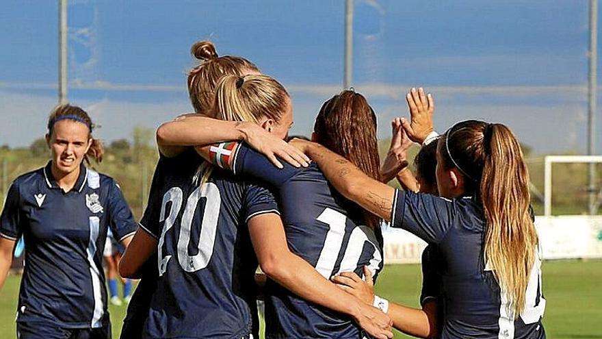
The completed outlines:
[[[484,257],[501,290],[508,293],[508,311],[519,316],[538,244],[529,207],[529,172],[519,141],[505,125],[463,121],[442,137],[439,153],[445,168],[458,168],[467,193],[472,191],[482,203]]]

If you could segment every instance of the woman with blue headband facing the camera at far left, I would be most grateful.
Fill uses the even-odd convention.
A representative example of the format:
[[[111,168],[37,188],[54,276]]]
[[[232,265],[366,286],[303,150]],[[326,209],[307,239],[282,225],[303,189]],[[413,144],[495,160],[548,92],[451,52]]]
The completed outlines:
[[[51,160],[15,179],[0,217],[0,286],[15,241],[27,243],[18,338],[110,338],[103,247],[112,229],[127,247],[137,224],[115,181],[83,165],[100,162],[88,114],[59,105],[48,119]]]

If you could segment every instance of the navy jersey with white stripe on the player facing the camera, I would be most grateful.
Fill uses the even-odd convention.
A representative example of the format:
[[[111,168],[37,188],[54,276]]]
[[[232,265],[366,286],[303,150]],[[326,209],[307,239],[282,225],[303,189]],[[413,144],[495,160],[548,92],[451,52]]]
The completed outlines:
[[[107,316],[103,248],[110,227],[122,240],[136,229],[115,181],[81,165],[63,192],[46,167],[18,177],[0,218],[0,235],[27,244],[18,322],[101,327]]]

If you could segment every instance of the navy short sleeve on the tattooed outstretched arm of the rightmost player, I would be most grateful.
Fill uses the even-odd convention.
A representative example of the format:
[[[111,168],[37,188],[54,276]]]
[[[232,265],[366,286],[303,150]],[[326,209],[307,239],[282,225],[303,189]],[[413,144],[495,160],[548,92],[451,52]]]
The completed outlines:
[[[456,205],[431,194],[395,190],[391,226],[405,229],[418,238],[439,244],[456,217]]]

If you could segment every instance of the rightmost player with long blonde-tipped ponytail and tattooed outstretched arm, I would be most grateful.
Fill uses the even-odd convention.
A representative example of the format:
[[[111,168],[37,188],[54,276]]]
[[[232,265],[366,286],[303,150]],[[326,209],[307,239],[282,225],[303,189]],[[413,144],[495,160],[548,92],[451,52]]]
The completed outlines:
[[[410,105],[428,110],[423,92]],[[422,142],[431,117],[403,121]],[[330,182],[352,201],[426,242],[445,260],[442,338],[545,338],[538,238],[529,209],[529,175],[505,125],[462,121],[439,139],[439,194],[396,190],[367,177],[326,147],[299,141]],[[393,323],[397,307],[389,307]]]

